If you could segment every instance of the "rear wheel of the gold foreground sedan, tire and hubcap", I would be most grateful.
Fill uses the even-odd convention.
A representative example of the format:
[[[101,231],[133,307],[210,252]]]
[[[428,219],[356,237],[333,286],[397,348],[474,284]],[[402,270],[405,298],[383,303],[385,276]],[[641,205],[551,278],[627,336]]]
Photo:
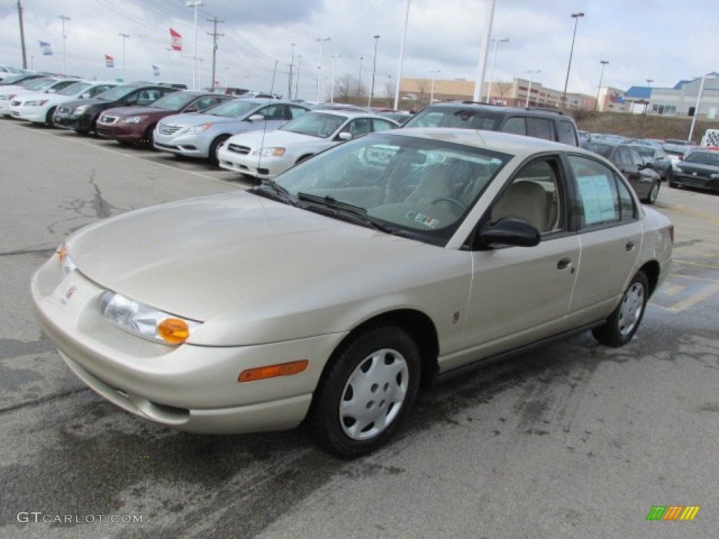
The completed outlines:
[[[648,300],[649,281],[644,272],[637,272],[629,282],[617,308],[603,326],[592,329],[592,335],[606,346],[624,346],[631,341],[639,328]]]

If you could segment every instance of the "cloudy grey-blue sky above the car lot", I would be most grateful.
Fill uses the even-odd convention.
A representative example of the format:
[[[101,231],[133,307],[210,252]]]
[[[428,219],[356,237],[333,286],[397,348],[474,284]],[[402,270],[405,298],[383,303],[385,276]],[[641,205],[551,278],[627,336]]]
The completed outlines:
[[[97,78],[160,79],[192,86],[194,9],[184,0],[21,0],[28,67],[63,70],[63,19],[69,73]],[[0,63],[22,65],[16,0],[0,4]],[[362,82],[372,78],[375,39],[375,95],[386,95],[398,72],[407,0],[203,0],[198,8],[198,74],[211,84],[212,23],[218,32],[216,80],[287,95],[289,65],[300,70],[299,97],[316,97],[316,73],[322,44],[322,68],[329,88],[333,65]],[[493,32],[508,38],[498,45],[494,80],[529,78],[562,91],[567,76],[575,19],[577,34],[569,92],[595,95],[602,65],[603,86],[672,87],[677,81],[719,71],[718,0],[495,0]],[[405,78],[475,80],[485,35],[487,0],[410,0],[402,75]],[[168,52],[169,28],[183,35],[183,51]],[[42,55],[39,41],[52,45]],[[294,43],[293,47],[291,44]],[[485,80],[490,77],[493,45]],[[104,55],[115,67],[105,67]],[[301,55],[301,58],[298,58]],[[332,55],[341,55],[333,58]],[[31,58],[32,56],[32,58]],[[362,57],[362,60],[360,58]],[[273,73],[277,65],[274,88]],[[293,83],[293,86],[294,83]],[[293,88],[294,92],[294,88]]]

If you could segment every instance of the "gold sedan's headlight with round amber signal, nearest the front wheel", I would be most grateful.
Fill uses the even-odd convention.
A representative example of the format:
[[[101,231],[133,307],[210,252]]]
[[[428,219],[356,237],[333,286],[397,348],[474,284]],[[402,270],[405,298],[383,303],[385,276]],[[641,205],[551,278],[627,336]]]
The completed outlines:
[[[108,290],[100,298],[100,313],[106,321],[162,344],[183,344],[201,324],[154,309]]]

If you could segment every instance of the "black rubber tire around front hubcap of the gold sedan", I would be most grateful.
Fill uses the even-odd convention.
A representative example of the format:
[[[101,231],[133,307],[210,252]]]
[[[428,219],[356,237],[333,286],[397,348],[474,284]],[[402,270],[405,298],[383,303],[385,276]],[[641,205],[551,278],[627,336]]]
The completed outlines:
[[[350,375],[367,356],[379,349],[395,349],[408,368],[407,394],[392,423],[369,440],[353,440],[339,422],[339,404]],[[386,443],[410,412],[417,395],[421,360],[419,349],[406,331],[390,326],[372,328],[354,336],[331,357],[313,397],[309,426],[316,441],[327,451],[345,459],[362,456]]]

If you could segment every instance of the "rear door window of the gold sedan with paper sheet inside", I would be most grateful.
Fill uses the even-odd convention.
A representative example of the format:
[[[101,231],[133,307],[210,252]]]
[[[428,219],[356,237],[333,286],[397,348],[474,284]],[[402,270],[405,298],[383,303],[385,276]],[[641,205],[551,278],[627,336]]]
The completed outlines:
[[[618,224],[636,216],[628,188],[612,169],[580,155],[570,155],[569,165],[577,193],[580,228]]]

